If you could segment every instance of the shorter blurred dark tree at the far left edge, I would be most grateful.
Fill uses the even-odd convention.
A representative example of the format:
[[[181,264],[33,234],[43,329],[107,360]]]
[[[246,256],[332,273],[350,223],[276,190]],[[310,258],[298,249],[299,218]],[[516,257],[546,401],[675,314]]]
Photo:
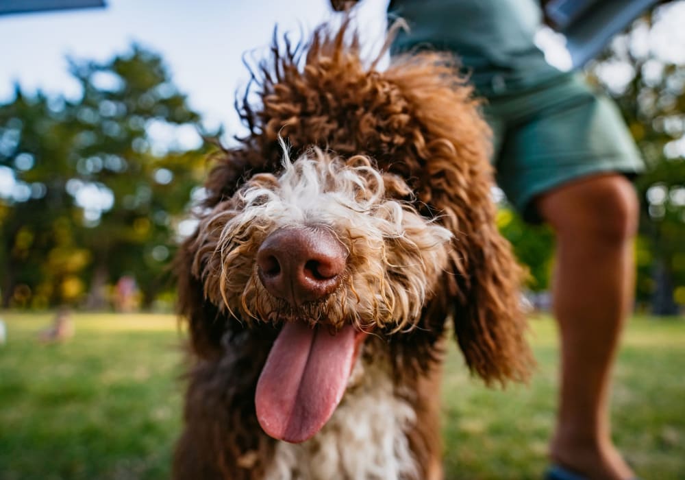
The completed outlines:
[[[25,304],[37,291],[40,304],[69,298],[77,287],[73,270],[87,256],[73,242],[71,229],[64,230],[74,212],[60,187],[68,175],[66,158],[75,132],[45,96],[29,99],[15,90],[12,104],[0,108],[0,171],[10,186],[0,200],[5,307],[12,298]],[[65,292],[63,282],[71,285]]]

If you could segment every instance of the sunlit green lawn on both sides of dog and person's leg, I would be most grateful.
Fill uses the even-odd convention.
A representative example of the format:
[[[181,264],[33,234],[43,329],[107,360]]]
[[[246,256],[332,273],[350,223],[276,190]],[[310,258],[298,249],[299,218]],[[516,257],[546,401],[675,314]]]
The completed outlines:
[[[44,346],[49,314],[4,313],[0,479],[166,479],[180,428],[182,334],[169,315],[76,315],[75,337]],[[486,389],[456,349],[443,385],[448,480],[539,479],[556,403],[558,344],[532,320],[538,372]],[[645,479],[685,476],[685,321],[638,317],[616,369],[614,437]]]

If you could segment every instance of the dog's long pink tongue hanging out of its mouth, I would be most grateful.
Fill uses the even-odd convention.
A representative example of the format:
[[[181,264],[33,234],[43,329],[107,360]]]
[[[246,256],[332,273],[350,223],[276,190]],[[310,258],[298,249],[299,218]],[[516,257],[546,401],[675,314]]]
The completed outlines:
[[[321,430],[343,398],[362,335],[352,326],[331,335],[325,326],[284,324],[257,383],[255,406],[262,429],[292,443]]]

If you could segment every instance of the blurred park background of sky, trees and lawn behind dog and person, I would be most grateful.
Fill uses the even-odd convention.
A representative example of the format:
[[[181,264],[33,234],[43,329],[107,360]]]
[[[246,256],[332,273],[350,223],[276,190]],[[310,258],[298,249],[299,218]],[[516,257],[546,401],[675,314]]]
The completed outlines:
[[[368,45],[382,36],[384,6],[362,3]],[[215,148],[203,137],[230,145],[244,132],[233,108],[249,81],[243,62],[267,51],[274,25],[297,38],[330,15],[325,0],[110,0],[0,16],[0,479],[168,477],[184,337],[169,263],[203,196]],[[586,69],[647,162],[636,182],[636,317],[614,392],[617,440],[646,479],[685,477],[682,25],[685,2],[660,6]],[[562,65],[560,39],[547,30],[539,40]],[[539,373],[530,387],[491,392],[451,352],[449,479],[532,478],[545,465],[553,235],[504,200],[498,223],[530,269]],[[60,307],[74,312],[75,336],[39,344]]]

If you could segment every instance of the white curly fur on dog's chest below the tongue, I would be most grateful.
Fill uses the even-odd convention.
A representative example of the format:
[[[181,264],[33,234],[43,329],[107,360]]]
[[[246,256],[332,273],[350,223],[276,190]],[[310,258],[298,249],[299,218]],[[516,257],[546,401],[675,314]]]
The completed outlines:
[[[332,418],[311,440],[279,442],[267,480],[418,479],[407,431],[414,408],[398,397],[388,369],[358,361]]]

